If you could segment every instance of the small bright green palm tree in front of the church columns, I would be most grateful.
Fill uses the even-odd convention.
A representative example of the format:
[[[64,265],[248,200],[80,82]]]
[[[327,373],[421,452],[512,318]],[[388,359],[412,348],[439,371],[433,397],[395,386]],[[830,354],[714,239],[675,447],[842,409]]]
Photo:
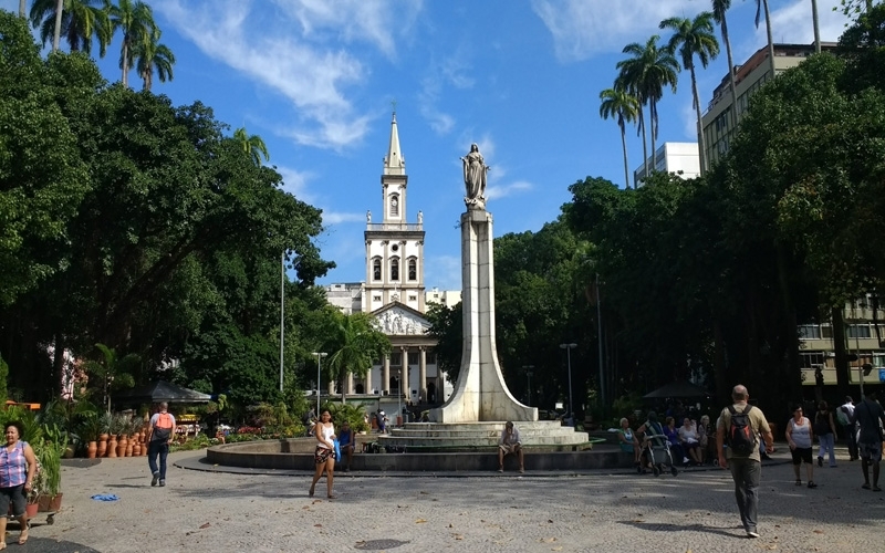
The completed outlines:
[[[343,384],[346,376],[365,376],[372,368],[373,359],[391,352],[391,341],[375,328],[368,313],[335,313],[330,323],[325,348],[332,354],[326,366],[336,374],[339,389],[342,390],[341,401],[345,403]]]

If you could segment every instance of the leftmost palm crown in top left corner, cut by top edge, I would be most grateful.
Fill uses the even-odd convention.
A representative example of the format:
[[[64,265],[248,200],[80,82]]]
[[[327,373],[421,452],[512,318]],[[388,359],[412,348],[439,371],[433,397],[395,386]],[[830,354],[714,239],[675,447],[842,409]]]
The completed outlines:
[[[58,50],[63,35],[71,52],[88,54],[92,53],[93,39],[97,39],[100,55],[104,56],[111,42],[111,25],[103,0],[34,0],[30,20],[31,27],[40,28],[43,44],[53,39],[53,50]]]

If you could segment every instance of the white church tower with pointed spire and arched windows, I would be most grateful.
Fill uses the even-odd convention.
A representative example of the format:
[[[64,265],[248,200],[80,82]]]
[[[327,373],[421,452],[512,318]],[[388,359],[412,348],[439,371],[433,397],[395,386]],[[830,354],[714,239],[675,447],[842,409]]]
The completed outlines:
[[[381,175],[382,221],[366,219],[366,284],[363,311],[373,313],[398,302],[424,313],[424,221],[408,222],[408,176],[399,148],[396,112],[391,122],[391,142]]]

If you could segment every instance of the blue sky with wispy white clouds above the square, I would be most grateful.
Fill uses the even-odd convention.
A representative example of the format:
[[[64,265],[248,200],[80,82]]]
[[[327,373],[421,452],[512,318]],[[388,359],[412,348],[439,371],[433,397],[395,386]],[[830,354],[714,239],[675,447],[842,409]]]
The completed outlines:
[[[174,80],[153,91],[176,105],[211,106],[260,135],[285,189],[323,210],[317,242],[337,268],[322,283],[365,278],[366,210],[381,213],[382,158],[392,103],[408,184],[408,220],[424,212],[426,285],[460,289],[459,157],[476,142],[491,166],[494,234],[537,231],[587,176],[623,186],[621,137],[598,116],[598,93],[621,50],[668,33],[702,0],[149,0],[176,55]],[[813,40],[810,0],[769,0],[777,42]],[[839,38],[837,0],[819,0],[821,36]],[[29,2],[30,4],[30,2]],[[0,0],[15,11],[18,0]],[[756,2],[728,14],[735,62],[763,46]],[[119,80],[119,36],[100,60]],[[97,51],[97,49],[96,49]],[[698,74],[702,105],[727,73],[721,55]],[[132,86],[140,80],[133,72]],[[688,73],[659,104],[660,142],[695,140]],[[631,170],[642,143],[629,132]],[[375,220],[377,220],[377,216]]]

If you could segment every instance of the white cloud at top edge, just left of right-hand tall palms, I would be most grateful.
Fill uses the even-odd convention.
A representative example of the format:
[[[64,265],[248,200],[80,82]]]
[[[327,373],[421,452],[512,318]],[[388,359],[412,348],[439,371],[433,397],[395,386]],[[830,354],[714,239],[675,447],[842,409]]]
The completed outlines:
[[[627,43],[659,33],[662,20],[694,17],[709,6],[697,0],[532,0],[532,9],[553,35],[556,58],[580,61],[620,52]]]

